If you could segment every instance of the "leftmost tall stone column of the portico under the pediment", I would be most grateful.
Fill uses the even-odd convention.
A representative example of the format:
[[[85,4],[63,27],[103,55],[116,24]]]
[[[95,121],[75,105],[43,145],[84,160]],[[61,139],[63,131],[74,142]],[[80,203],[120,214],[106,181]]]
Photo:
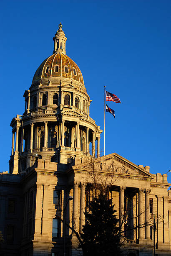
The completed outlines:
[[[78,231],[78,182],[73,185],[73,221],[72,226]]]

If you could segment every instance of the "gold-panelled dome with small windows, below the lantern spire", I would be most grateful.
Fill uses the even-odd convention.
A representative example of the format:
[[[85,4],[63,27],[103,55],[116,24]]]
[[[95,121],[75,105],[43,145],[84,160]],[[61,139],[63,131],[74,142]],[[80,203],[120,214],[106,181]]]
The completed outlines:
[[[36,70],[32,83],[34,84],[38,80],[48,77],[72,78],[84,86],[83,76],[79,67],[63,53],[55,53],[45,59]]]

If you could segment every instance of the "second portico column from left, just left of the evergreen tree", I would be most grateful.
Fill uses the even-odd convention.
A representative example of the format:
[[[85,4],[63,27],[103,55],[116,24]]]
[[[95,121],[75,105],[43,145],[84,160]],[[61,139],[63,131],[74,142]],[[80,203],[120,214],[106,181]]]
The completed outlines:
[[[85,225],[85,186],[86,184],[80,182],[81,193],[80,193],[80,233],[82,232],[83,225]]]

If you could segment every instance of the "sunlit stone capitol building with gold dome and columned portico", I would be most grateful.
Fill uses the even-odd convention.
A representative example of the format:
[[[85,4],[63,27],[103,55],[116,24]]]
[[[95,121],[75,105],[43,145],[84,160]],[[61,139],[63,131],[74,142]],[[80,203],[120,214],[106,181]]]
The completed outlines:
[[[149,166],[116,153],[100,156],[103,131],[90,117],[83,74],[66,55],[61,23],[53,41],[53,54],[24,92],[23,115],[10,123],[9,172],[0,173],[0,255],[82,255],[68,226],[81,233],[96,173],[99,182],[110,184],[108,197],[123,220],[123,256],[153,256],[154,248],[156,256],[171,256],[167,174],[151,174]]]

